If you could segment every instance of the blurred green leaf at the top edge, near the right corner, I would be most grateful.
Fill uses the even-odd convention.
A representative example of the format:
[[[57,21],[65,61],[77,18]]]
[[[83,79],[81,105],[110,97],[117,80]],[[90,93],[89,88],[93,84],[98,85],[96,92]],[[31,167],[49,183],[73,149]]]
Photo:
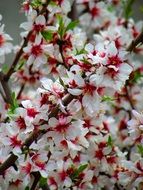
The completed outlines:
[[[132,11],[132,5],[135,2],[135,0],[124,0],[123,2],[123,6],[124,6],[124,17],[126,20],[129,19],[129,17],[132,15],[133,11]]]

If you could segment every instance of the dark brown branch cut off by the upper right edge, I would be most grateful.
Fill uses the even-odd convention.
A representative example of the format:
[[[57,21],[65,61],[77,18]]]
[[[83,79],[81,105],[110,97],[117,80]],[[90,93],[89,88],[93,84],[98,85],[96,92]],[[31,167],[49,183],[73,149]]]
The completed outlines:
[[[127,47],[126,50],[132,52],[140,43],[143,43],[143,31],[137,36],[135,40],[131,42],[131,44]]]

